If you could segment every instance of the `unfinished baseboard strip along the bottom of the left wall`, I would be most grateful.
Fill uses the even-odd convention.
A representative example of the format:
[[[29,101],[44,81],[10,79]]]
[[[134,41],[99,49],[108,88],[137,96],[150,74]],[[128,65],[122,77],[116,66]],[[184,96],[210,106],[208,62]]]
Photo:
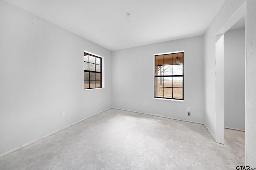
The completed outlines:
[[[10,154],[10,153],[15,152],[15,151],[17,151],[17,150],[23,149],[24,147],[27,147],[27,146],[29,146],[29,145],[32,145],[33,143],[36,143],[36,142],[38,142],[38,141],[40,141],[40,140],[42,140],[42,139],[45,139],[45,138],[47,138],[47,137],[49,137],[49,136],[51,136],[51,135],[54,135],[55,133],[57,133],[57,132],[59,132],[59,131],[62,131],[62,130],[64,130],[64,129],[68,128],[68,127],[71,127],[71,126],[73,126],[73,125],[75,125],[75,124],[77,124],[77,123],[80,123],[81,121],[84,121],[84,120],[86,120],[86,119],[90,119],[91,117],[94,117],[94,116],[96,116],[96,115],[98,115],[98,114],[100,114],[100,113],[102,113],[102,112],[104,112],[104,111],[107,111],[107,110],[109,110],[109,109],[111,109],[111,108],[105,109],[105,110],[103,110],[103,111],[100,111],[99,113],[96,113],[96,114],[94,114],[94,115],[91,115],[90,117],[87,117],[87,118],[84,118],[84,119],[82,119],[82,120],[79,120],[79,121],[77,121],[77,122],[75,122],[75,123],[72,123],[71,125],[68,125],[68,126],[64,127],[63,129],[54,131],[54,132],[52,132],[52,133],[50,133],[50,134],[48,134],[48,135],[46,135],[46,136],[44,136],[44,137],[42,137],[42,138],[40,138],[40,139],[38,139],[38,140],[30,141],[30,142],[28,142],[28,143],[22,145],[21,147],[16,147],[16,148],[14,148],[14,149],[12,149],[12,150],[9,150],[9,151],[7,151],[7,152],[4,152],[4,153],[0,154],[0,158],[1,158],[2,156],[6,156],[7,154]]]

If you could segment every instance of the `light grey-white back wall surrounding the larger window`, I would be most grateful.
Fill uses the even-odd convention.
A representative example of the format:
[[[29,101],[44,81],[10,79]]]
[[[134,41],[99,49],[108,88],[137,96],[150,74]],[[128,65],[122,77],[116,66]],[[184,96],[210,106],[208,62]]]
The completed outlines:
[[[198,36],[113,51],[113,107],[202,123],[202,41]],[[154,54],[183,50],[185,102],[154,99]],[[191,116],[187,107],[191,107]]]

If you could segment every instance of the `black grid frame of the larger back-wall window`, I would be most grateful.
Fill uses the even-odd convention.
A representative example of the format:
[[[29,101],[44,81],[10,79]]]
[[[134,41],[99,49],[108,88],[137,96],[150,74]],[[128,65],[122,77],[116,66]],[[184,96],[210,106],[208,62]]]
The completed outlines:
[[[164,63],[164,55],[172,55],[172,64],[168,64],[168,65],[178,65],[178,64],[181,64],[181,63],[175,63],[175,54],[177,54],[177,57],[178,57],[178,54],[179,53],[182,53],[182,75],[174,75],[174,69],[172,68],[172,75],[164,75],[164,72],[165,70],[163,69],[163,75],[156,75],[156,67],[158,66],[166,66],[166,64]],[[156,64],[156,56],[161,56],[163,55],[163,64]],[[164,81],[163,81],[163,85],[162,86],[157,86],[156,84],[156,78],[158,77],[162,77],[162,78],[165,78],[165,77],[172,77],[172,87],[165,87],[164,86]],[[174,87],[173,84],[174,84],[174,77],[182,77],[182,87]],[[163,97],[158,97],[156,96],[156,88],[163,88]],[[165,97],[164,96],[164,89],[165,88],[172,88],[172,98],[169,98],[169,97]],[[173,94],[174,94],[174,88],[182,88],[182,99],[180,98],[174,98]],[[157,55],[154,55],[154,98],[160,98],[160,99],[171,99],[171,100],[182,100],[184,101],[184,51],[180,51],[180,52],[172,52],[172,53],[164,53],[164,54],[157,54]]]

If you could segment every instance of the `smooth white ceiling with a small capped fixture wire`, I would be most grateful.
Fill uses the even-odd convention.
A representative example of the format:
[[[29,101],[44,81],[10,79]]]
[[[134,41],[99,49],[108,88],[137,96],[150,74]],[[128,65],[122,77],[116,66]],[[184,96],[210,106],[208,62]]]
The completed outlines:
[[[6,1],[114,51],[202,35],[225,0]]]

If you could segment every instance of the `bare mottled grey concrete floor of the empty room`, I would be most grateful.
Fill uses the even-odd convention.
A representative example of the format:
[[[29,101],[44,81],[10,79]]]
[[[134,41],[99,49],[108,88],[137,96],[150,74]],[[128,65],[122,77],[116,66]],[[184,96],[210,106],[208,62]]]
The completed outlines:
[[[1,170],[226,170],[244,165],[244,132],[225,145],[204,125],[109,109],[0,158]]]

